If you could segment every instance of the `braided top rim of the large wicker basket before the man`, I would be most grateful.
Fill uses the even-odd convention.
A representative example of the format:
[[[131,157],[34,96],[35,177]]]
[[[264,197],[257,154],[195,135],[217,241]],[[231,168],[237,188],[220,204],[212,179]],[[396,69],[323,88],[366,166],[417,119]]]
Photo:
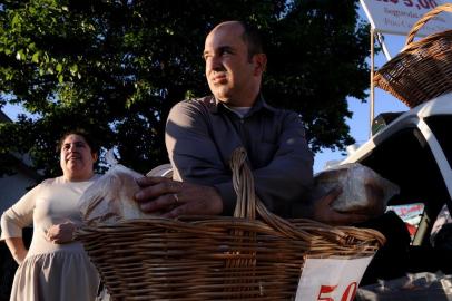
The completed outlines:
[[[83,241],[86,237],[92,234],[101,235],[108,233],[126,233],[135,231],[137,233],[141,233],[148,232],[149,229],[164,229],[168,232],[181,231],[187,234],[215,236],[223,234],[225,227],[232,231],[237,230],[240,232],[286,237],[286,233],[282,233],[281,231],[272,227],[262,220],[209,215],[189,216],[188,220],[193,220],[191,222],[184,221],[183,219],[184,216],[181,216],[181,220],[150,216],[149,219],[120,221],[115,224],[85,225],[77,229],[75,233],[75,240]],[[370,245],[373,244],[377,247],[382,246],[386,241],[381,232],[373,229],[355,227],[348,225],[332,226],[308,219],[295,219],[288,220],[287,222],[296,227],[297,231],[299,231],[299,233],[302,234],[297,237],[298,240],[309,240],[316,236],[324,236],[326,239],[327,236],[330,236],[332,241],[345,242],[350,239],[357,239],[363,243],[369,243]]]

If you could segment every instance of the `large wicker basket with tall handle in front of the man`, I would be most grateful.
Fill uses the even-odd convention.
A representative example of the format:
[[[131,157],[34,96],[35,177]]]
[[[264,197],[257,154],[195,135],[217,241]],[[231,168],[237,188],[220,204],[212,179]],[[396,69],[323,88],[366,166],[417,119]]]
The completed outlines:
[[[292,300],[305,255],[369,256],[384,243],[373,230],[269,213],[245,158],[243,149],[232,158],[235,217],[151,217],[77,232],[114,300]]]

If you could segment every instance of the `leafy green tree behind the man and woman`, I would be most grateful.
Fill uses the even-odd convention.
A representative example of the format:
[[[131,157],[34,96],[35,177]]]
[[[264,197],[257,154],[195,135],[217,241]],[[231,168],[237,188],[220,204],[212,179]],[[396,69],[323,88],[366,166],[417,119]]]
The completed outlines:
[[[346,97],[364,100],[369,78],[356,9],[357,0],[4,0],[0,107],[20,104],[32,116],[0,124],[0,157],[29,152],[55,176],[58,137],[88,127],[137,171],[167,162],[168,111],[209,94],[204,39],[230,19],[265,32],[265,98],[302,114],[313,151],[343,149],[353,143]]]

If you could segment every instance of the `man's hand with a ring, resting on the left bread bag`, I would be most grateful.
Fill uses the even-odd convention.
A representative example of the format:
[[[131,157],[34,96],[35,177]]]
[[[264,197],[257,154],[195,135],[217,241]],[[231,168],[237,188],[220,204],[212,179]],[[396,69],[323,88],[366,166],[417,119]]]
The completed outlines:
[[[223,212],[223,201],[210,186],[202,186],[166,177],[137,179],[141,190],[135,200],[144,212],[164,212],[164,217],[179,215],[217,215]]]

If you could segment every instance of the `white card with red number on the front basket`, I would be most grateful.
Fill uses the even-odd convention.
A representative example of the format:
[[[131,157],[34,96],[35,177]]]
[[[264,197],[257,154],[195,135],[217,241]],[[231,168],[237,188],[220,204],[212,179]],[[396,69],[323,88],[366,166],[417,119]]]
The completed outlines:
[[[373,256],[306,259],[296,301],[352,301]]]

